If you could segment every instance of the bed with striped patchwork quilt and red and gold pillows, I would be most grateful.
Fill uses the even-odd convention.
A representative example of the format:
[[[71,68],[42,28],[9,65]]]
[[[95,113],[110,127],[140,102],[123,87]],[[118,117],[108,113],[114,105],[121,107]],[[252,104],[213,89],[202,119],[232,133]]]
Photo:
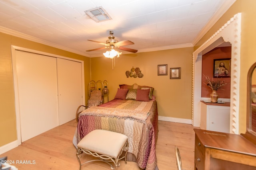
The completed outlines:
[[[122,133],[128,136],[127,160],[137,162],[142,169],[158,170],[158,110],[153,90],[148,86],[122,84],[114,100],[82,111],[78,117],[74,145],[94,129]]]

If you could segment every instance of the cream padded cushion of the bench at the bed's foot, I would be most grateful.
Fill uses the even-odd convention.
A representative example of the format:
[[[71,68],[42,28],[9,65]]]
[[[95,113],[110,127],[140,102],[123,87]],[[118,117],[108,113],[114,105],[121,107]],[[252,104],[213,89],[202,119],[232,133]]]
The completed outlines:
[[[116,158],[128,137],[122,133],[96,129],[88,133],[77,146],[98,154]]]

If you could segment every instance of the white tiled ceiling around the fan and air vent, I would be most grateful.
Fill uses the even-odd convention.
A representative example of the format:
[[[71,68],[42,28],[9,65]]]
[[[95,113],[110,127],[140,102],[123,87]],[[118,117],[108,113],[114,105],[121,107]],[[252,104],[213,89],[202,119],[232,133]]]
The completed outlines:
[[[87,39],[105,43],[110,30],[138,52],[191,47],[234,1],[0,0],[0,31],[87,57],[106,51],[86,52],[104,47]],[[112,20],[96,23],[84,13],[99,6]]]

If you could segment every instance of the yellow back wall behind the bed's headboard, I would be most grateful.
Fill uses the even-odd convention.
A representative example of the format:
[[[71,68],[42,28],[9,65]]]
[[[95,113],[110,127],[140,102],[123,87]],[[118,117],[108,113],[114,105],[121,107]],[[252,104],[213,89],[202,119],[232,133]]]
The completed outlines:
[[[192,119],[192,52],[193,47],[121,55],[115,61],[91,58],[92,80],[107,80],[109,100],[114,99],[119,84],[154,87],[160,116]],[[168,64],[168,75],[158,76],[158,64]],[[139,67],[143,78],[127,78],[125,72]],[[181,67],[181,79],[170,79],[170,68]]]

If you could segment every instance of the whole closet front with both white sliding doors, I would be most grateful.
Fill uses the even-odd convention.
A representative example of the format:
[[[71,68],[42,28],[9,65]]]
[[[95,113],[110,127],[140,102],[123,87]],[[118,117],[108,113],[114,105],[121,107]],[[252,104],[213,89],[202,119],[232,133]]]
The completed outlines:
[[[18,141],[75,119],[76,108],[84,104],[83,61],[12,53]]]

